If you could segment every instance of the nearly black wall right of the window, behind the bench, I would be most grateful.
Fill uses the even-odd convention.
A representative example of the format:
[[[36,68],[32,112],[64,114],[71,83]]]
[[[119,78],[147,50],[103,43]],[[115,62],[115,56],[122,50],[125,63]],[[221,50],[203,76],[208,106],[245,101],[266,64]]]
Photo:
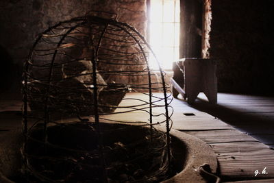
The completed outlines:
[[[210,58],[217,58],[220,92],[272,94],[273,1],[212,0]]]

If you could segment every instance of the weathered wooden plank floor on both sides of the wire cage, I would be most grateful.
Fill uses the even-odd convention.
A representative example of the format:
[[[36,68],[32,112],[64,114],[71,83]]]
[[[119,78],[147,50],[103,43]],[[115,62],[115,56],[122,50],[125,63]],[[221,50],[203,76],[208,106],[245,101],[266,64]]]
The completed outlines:
[[[221,95],[222,96],[222,95]],[[144,99],[140,95],[136,95],[134,93],[129,93],[125,98],[131,97],[139,97],[140,99]],[[249,106],[248,108],[240,110],[240,113],[250,113],[255,115],[256,112],[262,112],[264,114],[271,113],[271,110],[267,110],[269,112],[265,112],[264,108],[255,108],[252,109],[250,106],[256,106],[252,104],[252,99],[247,97],[242,99],[241,96],[234,96],[234,104],[233,100],[229,100],[229,96],[223,95],[219,97],[219,104],[224,105],[225,100],[227,100],[227,108],[228,111],[232,110],[232,114],[227,114],[227,111],[223,111],[223,108],[219,108],[218,106],[210,106],[210,104],[197,100],[197,102],[193,106],[189,106],[186,101],[181,99],[173,99],[171,105],[174,109],[173,117],[173,128],[180,130],[182,132],[186,132],[190,135],[197,136],[202,141],[208,143],[210,147],[212,147],[213,151],[216,154],[216,158],[219,161],[219,176],[223,182],[274,182],[274,151],[269,148],[269,146],[264,145],[264,143],[260,142],[260,138],[253,138],[248,135],[244,130],[240,129],[242,132],[237,130],[234,126],[235,123],[229,125],[220,120],[220,117],[216,117],[210,113],[210,111],[217,110],[219,112],[223,112],[223,116],[227,117],[227,119],[236,118],[235,121],[238,123],[241,122],[244,117],[240,117],[237,119],[238,112],[234,109],[242,108],[240,105],[237,105],[235,102],[237,101],[245,101],[242,106]],[[264,106],[272,107],[271,100],[267,98],[259,101],[264,103]],[[132,101],[125,100],[121,103],[120,106],[127,105]],[[258,103],[257,103],[258,104]],[[260,106],[260,104],[258,104]],[[209,109],[206,109],[209,108]],[[8,110],[8,111],[7,111]],[[15,111],[12,112],[12,111]],[[21,127],[21,101],[0,101],[0,133],[4,133],[5,130],[12,130],[14,127]],[[121,109],[118,109],[119,111]],[[208,110],[209,112],[206,112]],[[17,111],[17,112],[16,112]],[[262,114],[260,113],[260,114]],[[16,114],[16,115],[14,115]],[[274,116],[274,115],[273,115]],[[124,114],[123,118],[125,120],[130,121],[142,121],[142,118],[145,118],[145,112],[129,112],[128,114]],[[258,117],[258,116],[256,116]],[[115,115],[113,115],[113,119]],[[253,117],[250,117],[253,119]],[[268,118],[268,117],[263,117]],[[272,116],[270,117],[272,119]],[[267,121],[266,121],[267,122]],[[271,122],[269,122],[268,125]],[[245,119],[241,126],[249,126],[254,125],[255,122],[252,123]],[[260,125],[262,123],[260,122]],[[272,126],[271,126],[272,127]],[[254,134],[262,134],[262,129],[258,128],[259,132]],[[273,133],[273,129],[267,129],[263,135],[268,138]],[[1,131],[3,130],[3,131]],[[254,130],[254,129],[253,129]],[[264,130],[264,129],[263,129]],[[268,136],[269,135],[269,136]],[[272,141],[270,141],[272,143]],[[255,171],[258,170],[260,174],[255,176]],[[263,170],[267,172],[267,174],[263,173]]]

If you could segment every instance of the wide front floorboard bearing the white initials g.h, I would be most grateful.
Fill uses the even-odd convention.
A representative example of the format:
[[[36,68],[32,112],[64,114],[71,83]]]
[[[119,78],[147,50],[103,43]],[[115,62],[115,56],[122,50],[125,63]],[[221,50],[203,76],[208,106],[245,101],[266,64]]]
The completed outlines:
[[[220,172],[228,178],[253,178],[254,171],[266,167],[267,175],[258,178],[274,178],[274,151],[256,142],[210,144],[219,161]]]

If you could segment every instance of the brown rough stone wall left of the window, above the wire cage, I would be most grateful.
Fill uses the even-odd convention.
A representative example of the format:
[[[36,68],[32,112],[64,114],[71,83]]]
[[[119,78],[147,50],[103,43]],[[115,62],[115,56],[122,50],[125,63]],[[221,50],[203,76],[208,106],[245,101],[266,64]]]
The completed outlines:
[[[0,1],[0,92],[20,88],[23,62],[35,38],[47,27],[90,11],[117,14],[117,20],[145,34],[145,0]]]

